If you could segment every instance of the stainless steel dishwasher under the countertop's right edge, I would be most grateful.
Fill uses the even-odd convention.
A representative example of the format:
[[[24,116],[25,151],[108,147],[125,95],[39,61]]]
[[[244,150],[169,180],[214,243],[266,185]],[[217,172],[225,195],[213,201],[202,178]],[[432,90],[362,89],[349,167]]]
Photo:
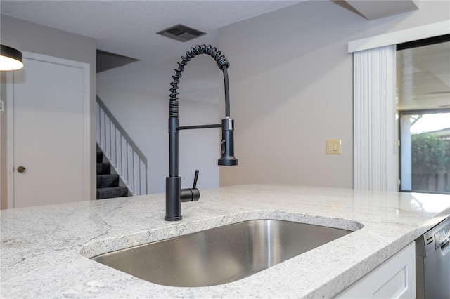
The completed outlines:
[[[450,217],[416,239],[416,298],[450,298]]]

